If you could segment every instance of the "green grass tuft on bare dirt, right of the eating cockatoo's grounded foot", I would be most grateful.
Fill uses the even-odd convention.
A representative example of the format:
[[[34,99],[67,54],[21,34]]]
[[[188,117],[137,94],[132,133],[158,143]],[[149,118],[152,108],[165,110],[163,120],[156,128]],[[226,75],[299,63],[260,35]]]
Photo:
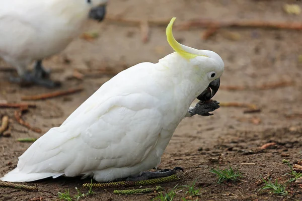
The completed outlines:
[[[218,176],[217,183],[220,184],[223,181],[237,181],[243,177],[243,175],[237,170],[234,170],[231,166],[230,169],[221,170],[219,168],[210,170],[211,173]]]

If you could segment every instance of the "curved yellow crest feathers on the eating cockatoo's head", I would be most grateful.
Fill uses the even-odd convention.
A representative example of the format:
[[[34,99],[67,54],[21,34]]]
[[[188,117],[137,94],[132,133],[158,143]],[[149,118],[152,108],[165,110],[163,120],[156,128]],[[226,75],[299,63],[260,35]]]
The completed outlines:
[[[183,48],[184,45],[180,44],[179,42],[177,42],[173,36],[172,33],[172,27],[173,27],[173,23],[175,21],[176,18],[172,18],[169,25],[166,28],[166,35],[167,35],[167,40],[169,45],[175,50],[175,52],[177,52],[178,54],[180,54],[183,58],[185,59],[193,59],[199,55],[197,54],[191,54],[189,52],[186,52]],[[184,46],[186,47],[186,46]]]

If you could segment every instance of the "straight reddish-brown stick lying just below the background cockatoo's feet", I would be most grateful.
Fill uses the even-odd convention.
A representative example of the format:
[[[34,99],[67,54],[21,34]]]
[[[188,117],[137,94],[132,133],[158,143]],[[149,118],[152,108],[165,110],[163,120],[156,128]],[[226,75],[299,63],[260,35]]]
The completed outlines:
[[[62,95],[68,95],[71,93],[79,92],[82,91],[84,88],[79,87],[79,88],[71,88],[67,90],[60,90],[60,91],[54,91],[51,93],[42,93],[38,95],[29,95],[29,96],[23,96],[21,97],[22,100],[41,100],[41,99],[47,99],[47,98],[52,98],[52,97],[57,97],[57,96],[62,96]]]

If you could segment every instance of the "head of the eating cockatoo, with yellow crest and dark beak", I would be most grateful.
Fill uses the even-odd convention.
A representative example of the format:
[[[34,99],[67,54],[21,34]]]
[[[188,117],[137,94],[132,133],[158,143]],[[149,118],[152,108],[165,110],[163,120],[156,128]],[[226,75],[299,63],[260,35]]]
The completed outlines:
[[[192,66],[197,66],[200,76],[206,80],[208,87],[200,95],[199,100],[209,100],[217,92],[220,85],[220,76],[224,70],[224,63],[221,57],[213,51],[197,50],[178,43],[172,33],[173,23],[176,18],[172,18],[167,29],[166,35],[170,46],[184,59],[186,59]],[[212,91],[211,91],[212,89]]]

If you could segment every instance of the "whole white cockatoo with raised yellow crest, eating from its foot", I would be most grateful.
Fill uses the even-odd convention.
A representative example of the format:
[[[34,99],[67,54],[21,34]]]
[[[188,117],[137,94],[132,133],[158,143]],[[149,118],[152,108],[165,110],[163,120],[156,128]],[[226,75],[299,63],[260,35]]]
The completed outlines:
[[[178,43],[158,63],[139,63],[104,83],[60,127],[51,128],[0,178],[25,182],[58,176],[93,176],[99,182],[167,176],[157,167],[176,127],[185,117],[208,116],[219,108],[206,101],[219,87],[224,64],[218,54]],[[212,91],[210,90],[212,88]]]

